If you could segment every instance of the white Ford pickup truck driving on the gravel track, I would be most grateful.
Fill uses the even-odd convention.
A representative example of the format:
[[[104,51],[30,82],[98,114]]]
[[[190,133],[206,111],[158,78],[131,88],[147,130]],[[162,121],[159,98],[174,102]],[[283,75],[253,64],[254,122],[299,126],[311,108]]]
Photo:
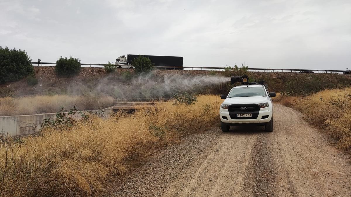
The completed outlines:
[[[265,85],[244,83],[234,87],[219,109],[221,129],[229,131],[230,126],[264,125],[266,131],[273,131],[273,103],[276,93],[267,90]]]

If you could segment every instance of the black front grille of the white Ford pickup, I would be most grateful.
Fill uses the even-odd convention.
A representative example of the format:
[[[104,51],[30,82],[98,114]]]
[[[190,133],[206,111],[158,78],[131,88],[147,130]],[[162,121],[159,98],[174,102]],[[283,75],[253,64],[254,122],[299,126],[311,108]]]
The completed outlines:
[[[231,119],[256,119],[260,109],[258,104],[232,104],[228,107]],[[252,117],[236,117],[236,114],[252,114]]]

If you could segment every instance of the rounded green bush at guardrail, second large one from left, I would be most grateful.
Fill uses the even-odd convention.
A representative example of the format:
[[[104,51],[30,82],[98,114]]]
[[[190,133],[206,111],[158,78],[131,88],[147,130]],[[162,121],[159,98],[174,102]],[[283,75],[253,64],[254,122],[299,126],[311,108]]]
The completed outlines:
[[[72,56],[67,59],[67,57],[60,57],[56,61],[55,72],[60,76],[73,76],[77,75],[80,70],[80,61],[78,58],[73,58]]]

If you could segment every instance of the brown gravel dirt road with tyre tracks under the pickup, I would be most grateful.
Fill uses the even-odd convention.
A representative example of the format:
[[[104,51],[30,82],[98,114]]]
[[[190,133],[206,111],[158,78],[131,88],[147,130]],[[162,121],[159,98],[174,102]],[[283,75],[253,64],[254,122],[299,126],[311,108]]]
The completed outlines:
[[[351,196],[350,154],[303,114],[274,106],[274,131],[219,128],[154,154],[112,196]]]

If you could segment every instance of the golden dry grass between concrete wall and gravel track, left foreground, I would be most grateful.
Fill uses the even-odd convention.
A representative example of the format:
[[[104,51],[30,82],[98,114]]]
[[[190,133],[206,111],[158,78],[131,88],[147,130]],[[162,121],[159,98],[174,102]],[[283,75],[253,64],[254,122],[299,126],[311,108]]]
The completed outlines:
[[[192,106],[168,102],[158,110],[93,118],[69,130],[2,142],[1,195],[99,196],[108,176],[127,173],[150,150],[218,124],[219,104],[218,96],[200,96]]]

